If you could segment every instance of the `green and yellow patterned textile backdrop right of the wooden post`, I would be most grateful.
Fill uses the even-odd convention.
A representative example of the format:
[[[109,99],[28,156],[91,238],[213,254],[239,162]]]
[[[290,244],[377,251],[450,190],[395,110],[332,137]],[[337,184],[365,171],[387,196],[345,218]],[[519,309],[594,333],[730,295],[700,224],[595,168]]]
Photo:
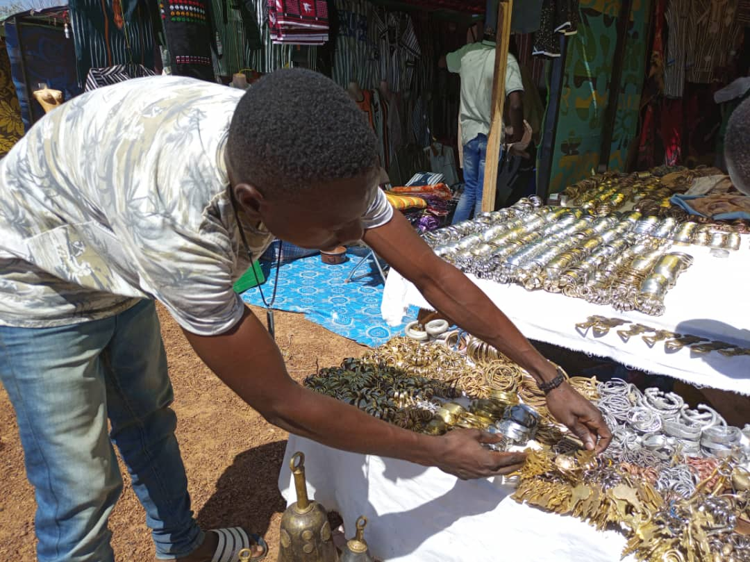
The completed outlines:
[[[610,167],[625,161],[637,128],[640,90],[645,72],[647,3],[634,0],[625,44]],[[581,0],[577,35],[568,38],[565,77],[560,93],[557,135],[550,173],[550,192],[590,176],[599,164],[621,2]]]

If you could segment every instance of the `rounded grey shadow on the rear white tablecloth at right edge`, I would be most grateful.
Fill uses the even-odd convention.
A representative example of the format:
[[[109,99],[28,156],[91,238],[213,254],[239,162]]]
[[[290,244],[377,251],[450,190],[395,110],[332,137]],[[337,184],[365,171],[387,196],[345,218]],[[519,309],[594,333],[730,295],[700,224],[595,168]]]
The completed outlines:
[[[676,332],[682,335],[697,335],[709,339],[721,339],[727,344],[735,344],[739,347],[750,347],[750,330],[730,326],[727,323],[718,320],[709,320],[707,318],[696,318],[694,320],[685,320],[676,327]],[[716,334],[721,334],[717,338]],[[707,342],[701,342],[707,343]],[[750,362],[750,356],[726,357],[712,351],[710,353],[695,353],[694,351],[678,350],[674,353],[690,353],[691,359],[701,359],[708,363],[714,371],[725,374],[727,377],[734,379],[745,379],[750,377],[750,371],[742,368]]]

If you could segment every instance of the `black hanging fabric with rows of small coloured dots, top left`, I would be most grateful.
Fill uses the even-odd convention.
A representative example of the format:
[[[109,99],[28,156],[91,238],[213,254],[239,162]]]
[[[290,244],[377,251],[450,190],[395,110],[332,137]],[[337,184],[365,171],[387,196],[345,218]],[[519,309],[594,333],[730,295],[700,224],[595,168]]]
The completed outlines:
[[[159,10],[172,74],[213,82],[215,44],[208,0],[160,0]]]

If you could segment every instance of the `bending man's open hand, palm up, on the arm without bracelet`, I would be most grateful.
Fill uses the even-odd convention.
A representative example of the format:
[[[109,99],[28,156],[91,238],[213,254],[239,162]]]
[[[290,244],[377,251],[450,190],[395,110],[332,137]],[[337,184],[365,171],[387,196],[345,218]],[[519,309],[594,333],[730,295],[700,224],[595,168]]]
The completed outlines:
[[[496,452],[481,443],[497,443],[500,435],[478,429],[454,429],[437,437],[443,451],[435,466],[462,480],[505,475],[518,470],[526,460],[523,452]]]

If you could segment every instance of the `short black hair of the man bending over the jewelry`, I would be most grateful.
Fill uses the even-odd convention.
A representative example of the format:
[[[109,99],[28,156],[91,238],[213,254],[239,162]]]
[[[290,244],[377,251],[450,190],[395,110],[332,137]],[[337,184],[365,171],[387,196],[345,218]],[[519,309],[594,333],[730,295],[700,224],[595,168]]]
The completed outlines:
[[[377,137],[365,113],[335,82],[302,68],[275,71],[248,89],[229,125],[227,156],[266,197],[377,167]]]

